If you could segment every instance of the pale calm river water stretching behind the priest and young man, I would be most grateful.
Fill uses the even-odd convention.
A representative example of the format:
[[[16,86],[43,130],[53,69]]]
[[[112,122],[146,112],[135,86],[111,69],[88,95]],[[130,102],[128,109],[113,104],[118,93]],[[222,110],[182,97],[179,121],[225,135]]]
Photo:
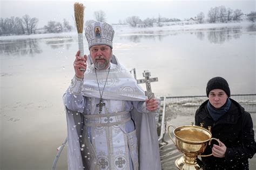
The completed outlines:
[[[231,94],[255,94],[255,25],[127,29],[114,26],[113,54],[137,79],[150,70],[156,96],[205,95],[206,83],[223,76]],[[85,42],[85,46],[86,46]],[[0,37],[1,169],[50,169],[66,137],[62,95],[74,72],[77,34]],[[88,50],[85,49],[85,53]],[[142,85],[145,89],[145,86]],[[187,125],[193,114],[166,112],[167,124]],[[256,115],[252,114],[253,121]],[[254,130],[255,124],[254,124]],[[180,157],[170,138],[161,147],[163,169]],[[250,160],[256,168],[255,156]],[[57,169],[66,169],[66,149]]]

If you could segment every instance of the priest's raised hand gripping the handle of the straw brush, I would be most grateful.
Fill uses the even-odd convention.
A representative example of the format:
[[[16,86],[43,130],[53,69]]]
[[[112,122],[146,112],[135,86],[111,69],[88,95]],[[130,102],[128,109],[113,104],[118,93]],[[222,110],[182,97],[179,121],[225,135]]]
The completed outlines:
[[[79,79],[83,79],[84,72],[86,71],[86,67],[87,67],[87,65],[86,65],[87,56],[86,55],[79,56],[79,54],[80,54],[80,51],[78,50],[77,54],[76,54],[76,59],[73,64],[74,64],[76,76]],[[80,70],[80,68],[83,68],[84,70]]]

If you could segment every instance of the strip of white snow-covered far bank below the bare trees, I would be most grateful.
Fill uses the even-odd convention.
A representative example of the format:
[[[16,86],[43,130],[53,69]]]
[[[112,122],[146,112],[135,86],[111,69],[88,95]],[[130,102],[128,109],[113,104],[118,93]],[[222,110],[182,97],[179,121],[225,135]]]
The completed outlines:
[[[195,31],[195,30],[208,30],[218,29],[221,27],[241,27],[243,30],[250,25],[255,23],[244,21],[237,23],[205,23],[205,24],[183,24],[181,22],[165,23],[164,26],[153,26],[153,27],[131,27],[130,25],[113,25],[115,34],[118,36],[125,36],[127,34],[158,34],[159,32],[180,32],[180,31]],[[246,30],[245,30],[246,31]],[[254,30],[254,32],[256,32]],[[52,37],[76,37],[77,32],[63,33],[48,33],[48,34],[30,34],[30,35],[19,35],[19,36],[0,36],[0,40],[10,39],[41,39],[41,38],[52,38]],[[85,37],[84,37],[85,38]],[[1,43],[1,42],[0,42]]]

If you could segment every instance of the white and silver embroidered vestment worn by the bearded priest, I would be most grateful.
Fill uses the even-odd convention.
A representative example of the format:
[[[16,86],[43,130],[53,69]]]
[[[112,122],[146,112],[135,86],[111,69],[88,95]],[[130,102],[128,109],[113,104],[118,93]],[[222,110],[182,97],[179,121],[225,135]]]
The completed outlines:
[[[160,169],[154,113],[146,110],[144,91],[114,55],[111,62],[110,70],[97,70],[105,103],[100,114],[93,65],[64,95],[69,169]]]

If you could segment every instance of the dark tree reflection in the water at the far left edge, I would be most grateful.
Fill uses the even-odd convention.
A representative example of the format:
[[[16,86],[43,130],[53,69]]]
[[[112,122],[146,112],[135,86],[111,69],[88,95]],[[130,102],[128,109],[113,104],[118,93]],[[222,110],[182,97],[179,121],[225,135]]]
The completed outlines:
[[[32,55],[42,53],[37,39],[0,40],[0,54]]]

